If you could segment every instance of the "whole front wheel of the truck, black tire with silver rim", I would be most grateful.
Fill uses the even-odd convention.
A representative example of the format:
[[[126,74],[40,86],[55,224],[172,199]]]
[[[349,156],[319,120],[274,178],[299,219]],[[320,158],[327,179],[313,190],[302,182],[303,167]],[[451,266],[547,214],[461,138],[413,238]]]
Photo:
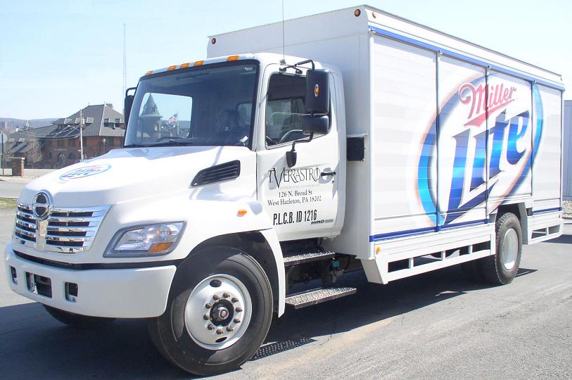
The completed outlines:
[[[272,321],[272,289],[253,258],[205,248],[179,267],[167,309],[149,320],[160,353],[187,372],[228,372],[250,359]]]

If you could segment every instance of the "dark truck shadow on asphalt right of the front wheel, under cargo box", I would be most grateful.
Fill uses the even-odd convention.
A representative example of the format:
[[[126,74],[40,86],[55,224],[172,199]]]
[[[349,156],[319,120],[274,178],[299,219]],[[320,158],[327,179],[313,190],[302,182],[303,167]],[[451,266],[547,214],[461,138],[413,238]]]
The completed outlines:
[[[516,277],[537,270],[520,268]],[[337,284],[336,284],[337,286]],[[286,308],[286,313],[272,324],[258,353],[251,360],[312,343],[315,336],[337,334],[389,319],[433,303],[462,296],[469,291],[492,287],[469,279],[460,267],[377,285],[367,282],[361,272],[348,274],[339,286],[355,286],[355,296],[322,303],[300,310]],[[343,317],[341,317],[343,315]]]

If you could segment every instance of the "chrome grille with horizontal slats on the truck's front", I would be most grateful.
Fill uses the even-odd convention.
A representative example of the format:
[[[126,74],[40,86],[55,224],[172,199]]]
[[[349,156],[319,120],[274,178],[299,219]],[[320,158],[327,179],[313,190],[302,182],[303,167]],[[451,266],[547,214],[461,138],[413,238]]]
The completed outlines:
[[[52,208],[47,220],[39,220],[32,206],[18,203],[14,241],[39,251],[87,251],[108,210],[109,206]]]

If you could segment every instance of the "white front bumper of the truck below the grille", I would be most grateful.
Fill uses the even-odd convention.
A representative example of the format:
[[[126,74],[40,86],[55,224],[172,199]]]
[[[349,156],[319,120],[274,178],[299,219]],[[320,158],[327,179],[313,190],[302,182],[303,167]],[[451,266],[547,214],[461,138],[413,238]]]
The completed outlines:
[[[174,265],[134,269],[68,270],[24,260],[15,255],[12,244],[4,251],[4,265],[10,288],[44,305],[93,317],[157,317],[167,305]],[[17,274],[13,281],[12,269]],[[29,289],[27,277],[49,279],[51,297]],[[77,284],[77,296],[66,293],[65,283]],[[70,300],[72,298],[72,300]]]

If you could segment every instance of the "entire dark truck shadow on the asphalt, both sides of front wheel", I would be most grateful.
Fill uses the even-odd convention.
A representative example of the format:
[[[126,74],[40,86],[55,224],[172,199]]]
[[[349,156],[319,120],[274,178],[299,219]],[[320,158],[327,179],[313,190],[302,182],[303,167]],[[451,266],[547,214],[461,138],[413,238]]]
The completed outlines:
[[[535,270],[521,269],[519,276]],[[272,324],[251,361],[483,289],[456,267],[395,281],[367,283],[348,274],[342,285],[355,296],[300,310],[287,310]],[[71,329],[51,318],[39,303],[0,308],[0,367],[11,379],[86,378],[189,379],[155,350],[142,319],[122,319],[100,329]],[[236,374],[236,373],[235,373]]]

